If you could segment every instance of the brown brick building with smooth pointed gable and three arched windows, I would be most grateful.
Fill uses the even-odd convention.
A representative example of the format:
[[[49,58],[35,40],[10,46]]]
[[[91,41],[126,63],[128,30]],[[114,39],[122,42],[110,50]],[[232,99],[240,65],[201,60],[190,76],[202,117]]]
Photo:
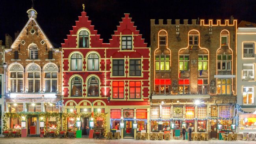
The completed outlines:
[[[55,104],[61,100],[61,51],[52,46],[39,26],[37,12],[31,8],[27,13],[28,22],[19,35],[15,34],[15,41],[6,39],[5,111],[59,112]],[[39,134],[36,117],[28,118],[28,133],[32,122],[37,122]],[[18,118],[10,118],[7,125],[13,128],[20,124]]]

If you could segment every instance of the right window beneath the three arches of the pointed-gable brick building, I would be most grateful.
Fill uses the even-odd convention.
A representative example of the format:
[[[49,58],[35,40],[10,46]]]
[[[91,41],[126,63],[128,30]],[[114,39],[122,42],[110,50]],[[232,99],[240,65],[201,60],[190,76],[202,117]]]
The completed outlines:
[[[45,92],[57,92],[57,72],[45,73]]]

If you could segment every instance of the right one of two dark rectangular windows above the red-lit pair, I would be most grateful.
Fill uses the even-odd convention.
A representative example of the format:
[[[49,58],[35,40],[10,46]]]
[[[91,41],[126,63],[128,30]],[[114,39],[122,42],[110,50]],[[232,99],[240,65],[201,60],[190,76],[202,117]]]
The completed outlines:
[[[141,76],[141,60],[130,60],[130,76]]]

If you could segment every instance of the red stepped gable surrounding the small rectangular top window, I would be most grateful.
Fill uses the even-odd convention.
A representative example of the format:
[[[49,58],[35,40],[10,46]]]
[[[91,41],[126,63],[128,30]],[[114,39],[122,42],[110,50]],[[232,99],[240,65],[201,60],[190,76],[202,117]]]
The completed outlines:
[[[132,18],[129,17],[130,14],[125,13],[124,18],[122,18],[122,22],[119,22],[120,25],[117,26],[117,30],[114,31],[114,35],[112,35],[112,39],[109,39],[109,47],[117,48],[120,46],[120,35],[134,35],[134,48],[147,48],[147,43],[145,43],[145,39],[142,39],[142,34],[139,34],[139,30],[137,26],[134,26],[134,22],[132,22]]]

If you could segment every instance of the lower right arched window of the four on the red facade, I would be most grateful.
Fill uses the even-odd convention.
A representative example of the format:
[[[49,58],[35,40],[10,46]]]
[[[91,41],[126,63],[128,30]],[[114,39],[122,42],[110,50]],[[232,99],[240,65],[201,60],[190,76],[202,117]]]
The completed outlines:
[[[88,94],[87,96],[99,96],[99,80],[92,76],[88,79]]]

